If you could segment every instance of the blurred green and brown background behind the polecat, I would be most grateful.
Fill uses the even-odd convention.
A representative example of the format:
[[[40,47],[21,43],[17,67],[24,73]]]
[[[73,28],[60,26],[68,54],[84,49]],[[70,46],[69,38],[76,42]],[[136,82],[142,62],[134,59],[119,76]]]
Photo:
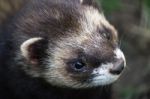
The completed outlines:
[[[26,0],[28,2],[28,0]],[[25,0],[0,0],[0,27]],[[113,99],[150,99],[150,0],[97,0],[119,33],[127,67],[113,86]]]

